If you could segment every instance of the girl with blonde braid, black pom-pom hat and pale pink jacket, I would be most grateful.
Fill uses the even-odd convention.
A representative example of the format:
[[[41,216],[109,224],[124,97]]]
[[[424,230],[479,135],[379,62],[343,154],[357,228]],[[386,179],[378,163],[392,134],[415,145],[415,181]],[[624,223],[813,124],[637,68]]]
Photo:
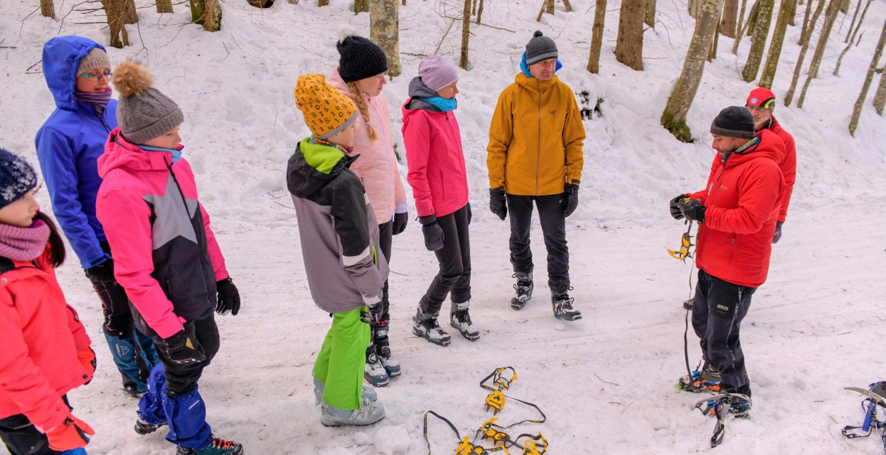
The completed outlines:
[[[406,192],[400,181],[397,158],[393,152],[391,116],[382,92],[387,73],[385,51],[376,43],[355,35],[353,28],[338,27],[338,67],[327,78],[329,84],[354,100],[360,115],[354,121],[354,161],[350,169],[360,177],[369,203],[378,220],[379,245],[385,259],[391,260],[392,235],[406,229],[408,212]],[[382,289],[383,312],[372,324],[372,339],[366,350],[364,378],[376,387],[388,384],[400,375],[400,364],[391,355],[388,322],[388,283]]]

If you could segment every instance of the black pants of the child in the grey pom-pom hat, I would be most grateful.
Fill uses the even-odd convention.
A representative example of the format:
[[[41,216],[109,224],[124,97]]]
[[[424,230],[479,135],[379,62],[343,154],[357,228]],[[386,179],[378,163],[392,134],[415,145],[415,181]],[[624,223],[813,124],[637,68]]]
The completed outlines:
[[[209,313],[204,319],[191,320],[184,323],[184,332],[190,339],[196,339],[203,348],[206,360],[199,363],[178,364],[169,359],[166,351],[166,344],[159,335],[154,335],[154,345],[157,347],[157,354],[160,361],[163,362],[163,368],[166,370],[166,386],[167,393],[170,397],[184,395],[194,388],[194,384],[203,374],[203,368],[209,366],[215,354],[219,351],[219,328],[215,325],[214,313]]]

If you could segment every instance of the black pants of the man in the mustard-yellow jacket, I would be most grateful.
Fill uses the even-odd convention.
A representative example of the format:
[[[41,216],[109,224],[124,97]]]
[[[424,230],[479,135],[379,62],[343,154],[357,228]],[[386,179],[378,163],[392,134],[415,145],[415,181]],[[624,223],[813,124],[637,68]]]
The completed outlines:
[[[566,246],[566,217],[563,216],[563,194],[550,196],[506,195],[510,215],[510,263],[514,272],[532,273],[532,203],[539,211],[541,232],[548,250],[548,287],[551,294],[569,291],[569,248]]]

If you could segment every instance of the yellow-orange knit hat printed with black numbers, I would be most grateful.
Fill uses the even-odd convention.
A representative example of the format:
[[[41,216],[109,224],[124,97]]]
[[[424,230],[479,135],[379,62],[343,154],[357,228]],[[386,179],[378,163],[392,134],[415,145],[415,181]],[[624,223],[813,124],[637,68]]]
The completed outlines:
[[[357,119],[351,98],[326,83],[323,74],[302,74],[295,83],[295,105],[311,133],[320,139],[338,135]]]

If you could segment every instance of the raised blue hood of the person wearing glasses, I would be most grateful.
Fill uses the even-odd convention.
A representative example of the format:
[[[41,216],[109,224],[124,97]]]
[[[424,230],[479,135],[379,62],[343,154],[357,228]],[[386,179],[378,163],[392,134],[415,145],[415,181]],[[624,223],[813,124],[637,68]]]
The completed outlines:
[[[77,109],[74,91],[80,60],[101,44],[81,36],[59,36],[43,45],[43,78],[55,98],[56,107],[67,111]]]

